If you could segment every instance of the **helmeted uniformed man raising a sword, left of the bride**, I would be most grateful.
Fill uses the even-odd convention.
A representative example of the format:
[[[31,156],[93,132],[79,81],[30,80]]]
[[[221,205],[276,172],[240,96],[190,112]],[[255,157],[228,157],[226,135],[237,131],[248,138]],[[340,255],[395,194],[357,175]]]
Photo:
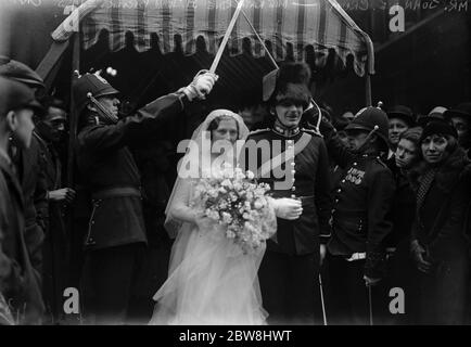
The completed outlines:
[[[84,283],[93,301],[86,308],[96,313],[98,323],[125,322],[148,242],[140,175],[128,146],[152,137],[190,101],[203,99],[216,78],[212,73],[199,74],[188,87],[154,100],[124,119],[117,117],[118,91],[104,78],[85,74],[74,83],[80,114],[77,162],[93,204],[85,240]]]

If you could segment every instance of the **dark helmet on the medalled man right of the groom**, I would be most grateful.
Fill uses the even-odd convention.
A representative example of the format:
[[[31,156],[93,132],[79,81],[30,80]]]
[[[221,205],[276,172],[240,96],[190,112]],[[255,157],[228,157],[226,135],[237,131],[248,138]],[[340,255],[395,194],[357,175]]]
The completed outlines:
[[[379,136],[381,140],[383,140],[383,144],[385,149],[389,147],[389,129],[390,123],[387,120],[387,115],[378,107],[365,107],[358,111],[355,115],[355,118],[345,127],[345,131],[348,130],[365,130],[372,131],[378,127],[375,133]]]

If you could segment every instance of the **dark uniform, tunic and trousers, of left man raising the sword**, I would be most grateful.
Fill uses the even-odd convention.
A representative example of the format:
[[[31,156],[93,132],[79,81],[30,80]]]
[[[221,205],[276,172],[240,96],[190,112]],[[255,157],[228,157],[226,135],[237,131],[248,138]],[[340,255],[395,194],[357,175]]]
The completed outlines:
[[[125,323],[136,305],[131,298],[148,240],[140,175],[129,146],[154,136],[182,111],[183,100],[168,94],[115,125],[87,125],[78,134],[78,168],[93,203],[81,281],[87,319],[94,313],[98,323]]]

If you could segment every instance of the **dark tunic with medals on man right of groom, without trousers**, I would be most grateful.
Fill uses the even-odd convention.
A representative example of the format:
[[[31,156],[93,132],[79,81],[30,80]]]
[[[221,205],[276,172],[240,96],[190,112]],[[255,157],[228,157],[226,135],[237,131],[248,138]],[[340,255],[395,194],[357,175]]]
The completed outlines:
[[[351,163],[334,190],[332,227],[329,243],[333,255],[366,253],[365,272],[380,277],[379,261],[383,240],[391,232],[386,215],[394,194],[391,171],[375,155],[364,154]]]

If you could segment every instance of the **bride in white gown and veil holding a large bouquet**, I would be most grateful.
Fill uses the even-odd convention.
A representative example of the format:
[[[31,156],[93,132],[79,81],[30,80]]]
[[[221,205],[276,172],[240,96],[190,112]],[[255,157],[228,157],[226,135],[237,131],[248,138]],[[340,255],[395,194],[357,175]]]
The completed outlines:
[[[242,118],[227,110],[216,110],[194,131],[190,147],[181,163],[198,165],[200,177],[215,175],[219,160],[234,165],[238,153],[232,155],[212,153],[217,140],[245,140],[249,129]],[[205,137],[211,145],[205,147]],[[237,147],[237,146],[236,146]],[[208,163],[209,165],[203,165]],[[257,271],[265,253],[265,245],[256,253],[243,254],[233,240],[227,239],[221,226],[215,227],[202,216],[191,202],[198,178],[179,178],[166,209],[165,227],[170,235],[176,234],[171,249],[169,275],[154,295],[156,301],[150,324],[264,324],[267,312],[262,307]],[[215,172],[216,171],[216,172]],[[276,229],[276,217],[295,219],[301,215],[296,201],[270,200],[272,209],[267,228]]]

